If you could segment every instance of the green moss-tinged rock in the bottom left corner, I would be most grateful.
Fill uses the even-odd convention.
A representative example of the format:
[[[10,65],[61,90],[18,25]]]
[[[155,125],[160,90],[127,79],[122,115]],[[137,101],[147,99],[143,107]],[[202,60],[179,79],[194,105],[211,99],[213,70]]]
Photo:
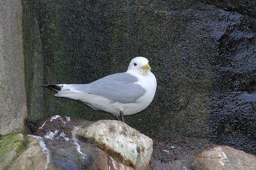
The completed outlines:
[[[0,139],[0,169],[52,169],[40,136],[10,134]]]

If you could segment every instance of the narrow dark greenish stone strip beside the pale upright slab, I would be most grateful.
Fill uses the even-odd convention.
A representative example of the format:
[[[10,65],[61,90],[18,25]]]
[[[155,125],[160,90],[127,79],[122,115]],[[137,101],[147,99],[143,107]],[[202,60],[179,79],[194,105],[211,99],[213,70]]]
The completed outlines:
[[[42,42],[38,28],[38,1],[22,1],[22,29],[24,39],[24,73],[26,99],[28,101],[28,118],[37,120],[47,117],[44,111],[44,91],[40,85],[44,83],[44,58]]]

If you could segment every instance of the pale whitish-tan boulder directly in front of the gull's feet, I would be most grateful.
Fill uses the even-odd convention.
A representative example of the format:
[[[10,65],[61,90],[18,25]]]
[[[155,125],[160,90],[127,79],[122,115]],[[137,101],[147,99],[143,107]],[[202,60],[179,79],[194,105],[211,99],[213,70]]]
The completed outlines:
[[[111,157],[135,169],[149,169],[153,141],[118,120],[99,120],[72,132],[95,143]]]

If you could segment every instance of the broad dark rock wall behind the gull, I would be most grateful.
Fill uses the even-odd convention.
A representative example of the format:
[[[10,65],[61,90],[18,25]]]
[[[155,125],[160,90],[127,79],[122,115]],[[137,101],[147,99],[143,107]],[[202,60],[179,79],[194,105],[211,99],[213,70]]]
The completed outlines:
[[[44,0],[34,6],[44,83],[90,83],[126,71],[133,57],[147,57],[157,78],[156,96],[146,110],[125,117],[127,124],[146,134],[210,138],[253,153],[252,15],[199,1]],[[50,91],[44,92],[43,108],[42,117],[114,118],[56,99]]]

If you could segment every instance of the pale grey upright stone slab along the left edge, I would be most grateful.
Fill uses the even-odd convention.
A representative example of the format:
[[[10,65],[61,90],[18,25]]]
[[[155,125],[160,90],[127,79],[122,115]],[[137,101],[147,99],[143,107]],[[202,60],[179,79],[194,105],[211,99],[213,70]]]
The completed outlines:
[[[24,130],[27,108],[22,43],[21,1],[1,1],[0,135]]]

